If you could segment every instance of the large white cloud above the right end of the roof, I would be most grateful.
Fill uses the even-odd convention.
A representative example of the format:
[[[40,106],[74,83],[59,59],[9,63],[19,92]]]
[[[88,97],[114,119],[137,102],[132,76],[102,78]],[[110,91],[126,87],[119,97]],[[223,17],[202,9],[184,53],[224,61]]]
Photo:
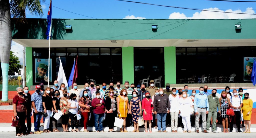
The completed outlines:
[[[218,8],[209,8],[204,10],[223,11]],[[231,9],[225,11],[225,12],[235,12],[235,13],[223,13],[223,12],[211,12],[211,11],[195,12],[192,17],[187,17],[184,13],[173,12],[169,15],[169,19],[251,19],[251,18],[256,18],[256,15],[235,14],[235,13],[255,14],[254,10],[252,10],[252,7],[248,7],[245,11],[231,10]]]

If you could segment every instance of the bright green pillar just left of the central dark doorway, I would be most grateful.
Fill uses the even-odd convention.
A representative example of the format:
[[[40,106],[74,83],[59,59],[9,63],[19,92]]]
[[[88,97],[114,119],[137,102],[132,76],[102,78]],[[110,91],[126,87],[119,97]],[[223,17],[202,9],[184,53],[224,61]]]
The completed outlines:
[[[122,47],[123,84],[126,80],[134,83],[133,47]]]

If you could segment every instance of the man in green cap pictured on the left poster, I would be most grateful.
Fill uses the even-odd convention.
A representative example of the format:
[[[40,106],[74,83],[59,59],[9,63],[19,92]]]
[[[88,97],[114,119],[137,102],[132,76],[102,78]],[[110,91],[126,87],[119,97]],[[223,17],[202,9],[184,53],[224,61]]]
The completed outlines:
[[[37,67],[36,72],[36,82],[48,82],[48,77],[46,72],[48,71],[48,66],[46,64],[40,63]],[[51,80],[49,80],[51,82]]]

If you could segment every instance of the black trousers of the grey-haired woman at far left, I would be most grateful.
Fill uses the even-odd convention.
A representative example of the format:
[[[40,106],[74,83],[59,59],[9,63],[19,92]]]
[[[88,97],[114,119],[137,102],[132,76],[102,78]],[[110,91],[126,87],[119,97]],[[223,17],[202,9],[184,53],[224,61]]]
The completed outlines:
[[[16,134],[27,134],[27,127],[25,125],[26,120],[26,112],[17,112],[17,116],[19,117],[19,127],[16,127]]]

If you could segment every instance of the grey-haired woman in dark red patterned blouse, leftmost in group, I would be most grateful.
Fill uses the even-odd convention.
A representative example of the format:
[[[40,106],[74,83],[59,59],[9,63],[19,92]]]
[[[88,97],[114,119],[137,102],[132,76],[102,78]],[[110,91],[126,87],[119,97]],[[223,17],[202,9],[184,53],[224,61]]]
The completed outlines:
[[[19,117],[19,125],[20,127],[16,127],[16,136],[22,137],[27,135],[27,127],[25,125],[27,110],[26,110],[26,100],[22,95],[23,88],[17,88],[17,95],[13,98],[13,111],[14,117],[18,120],[17,116]]]

